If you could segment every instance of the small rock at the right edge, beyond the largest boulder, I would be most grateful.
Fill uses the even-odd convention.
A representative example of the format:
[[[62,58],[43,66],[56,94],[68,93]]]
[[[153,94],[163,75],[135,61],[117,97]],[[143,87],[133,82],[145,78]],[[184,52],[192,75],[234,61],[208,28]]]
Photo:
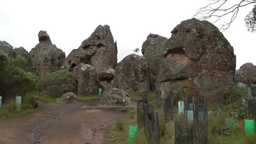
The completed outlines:
[[[256,83],[256,66],[252,63],[245,63],[236,70],[235,82]]]

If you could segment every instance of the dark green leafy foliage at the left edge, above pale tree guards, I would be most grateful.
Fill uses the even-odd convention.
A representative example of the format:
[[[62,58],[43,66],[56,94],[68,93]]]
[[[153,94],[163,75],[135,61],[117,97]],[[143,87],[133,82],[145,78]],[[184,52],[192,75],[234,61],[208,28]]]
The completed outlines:
[[[37,77],[23,70],[25,66],[27,66],[25,58],[10,58],[0,51],[0,95],[3,98],[24,95],[37,89]]]

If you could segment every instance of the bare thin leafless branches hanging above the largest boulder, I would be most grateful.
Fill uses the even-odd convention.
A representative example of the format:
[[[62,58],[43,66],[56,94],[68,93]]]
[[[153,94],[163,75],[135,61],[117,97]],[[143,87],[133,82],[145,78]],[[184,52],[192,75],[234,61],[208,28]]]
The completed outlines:
[[[227,30],[230,27],[231,23],[234,22],[234,20],[237,18],[240,8],[256,3],[256,0],[241,0],[239,3],[229,6],[228,2],[230,2],[231,0],[209,1],[212,2],[198,9],[196,14],[194,15],[194,18],[198,18],[199,20],[211,20],[213,21],[213,23],[215,23],[220,20],[225,20],[225,17],[229,17],[228,21],[223,22],[219,26],[219,29],[222,31]]]

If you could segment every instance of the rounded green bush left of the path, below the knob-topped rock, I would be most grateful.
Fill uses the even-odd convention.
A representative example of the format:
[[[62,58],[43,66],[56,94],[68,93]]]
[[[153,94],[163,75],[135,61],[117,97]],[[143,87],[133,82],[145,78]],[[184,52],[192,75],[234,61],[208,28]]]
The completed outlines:
[[[75,82],[72,73],[67,70],[58,70],[40,76],[39,87],[45,95],[60,97],[66,92],[74,92]]]

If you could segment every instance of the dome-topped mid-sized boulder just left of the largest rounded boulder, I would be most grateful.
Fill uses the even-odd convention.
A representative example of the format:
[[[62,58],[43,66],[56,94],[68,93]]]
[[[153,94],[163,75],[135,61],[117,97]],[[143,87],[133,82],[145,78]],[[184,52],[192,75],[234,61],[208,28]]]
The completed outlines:
[[[130,54],[118,63],[115,69],[113,87],[127,92],[149,90],[149,68],[145,57]]]

